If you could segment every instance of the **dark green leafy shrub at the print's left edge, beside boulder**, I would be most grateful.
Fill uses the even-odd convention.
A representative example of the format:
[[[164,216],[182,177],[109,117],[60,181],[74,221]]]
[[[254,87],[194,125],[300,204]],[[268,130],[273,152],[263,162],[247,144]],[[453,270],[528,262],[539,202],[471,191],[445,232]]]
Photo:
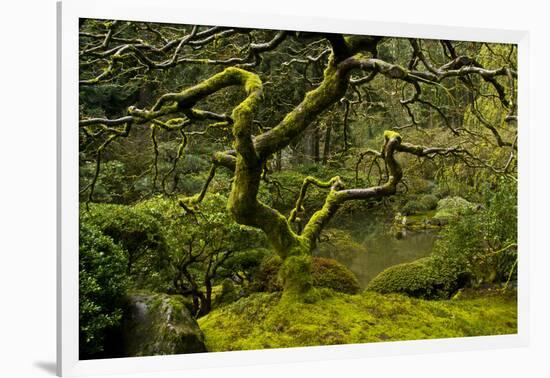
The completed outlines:
[[[120,323],[128,287],[122,248],[98,227],[80,225],[79,351],[80,358],[101,357],[106,338]]]

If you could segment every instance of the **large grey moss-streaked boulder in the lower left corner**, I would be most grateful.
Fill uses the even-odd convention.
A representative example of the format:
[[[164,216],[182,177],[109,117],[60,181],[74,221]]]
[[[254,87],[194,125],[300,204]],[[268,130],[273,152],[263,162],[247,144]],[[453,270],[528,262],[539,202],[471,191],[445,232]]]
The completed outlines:
[[[179,295],[129,295],[122,335],[128,357],[207,351],[204,335]]]

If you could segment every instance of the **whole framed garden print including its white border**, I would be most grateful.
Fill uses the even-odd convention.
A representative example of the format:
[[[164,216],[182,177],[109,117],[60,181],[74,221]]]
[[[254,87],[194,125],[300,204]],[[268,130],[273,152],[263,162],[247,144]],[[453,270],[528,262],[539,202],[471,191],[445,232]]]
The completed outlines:
[[[58,374],[525,345],[527,33],[58,15]]]

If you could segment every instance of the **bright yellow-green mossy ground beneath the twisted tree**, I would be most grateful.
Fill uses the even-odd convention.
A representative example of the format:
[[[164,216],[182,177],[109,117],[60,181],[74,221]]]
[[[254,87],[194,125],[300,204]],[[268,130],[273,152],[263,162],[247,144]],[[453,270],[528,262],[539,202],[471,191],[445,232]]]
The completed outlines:
[[[514,294],[462,293],[428,301],[397,294],[357,295],[320,289],[321,300],[300,303],[257,293],[199,320],[209,351],[354,344],[514,334]]]

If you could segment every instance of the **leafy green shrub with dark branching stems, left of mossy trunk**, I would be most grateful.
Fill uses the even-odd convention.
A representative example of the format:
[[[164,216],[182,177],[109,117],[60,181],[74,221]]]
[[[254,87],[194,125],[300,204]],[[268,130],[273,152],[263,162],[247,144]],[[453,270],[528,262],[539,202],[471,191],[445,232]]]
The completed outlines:
[[[166,280],[171,290],[193,298],[195,315],[210,311],[216,283],[230,278],[247,285],[266,254],[263,235],[235,223],[225,209],[226,201],[219,193],[207,195],[189,211],[163,196],[136,204],[140,211],[161,219],[169,251]]]

